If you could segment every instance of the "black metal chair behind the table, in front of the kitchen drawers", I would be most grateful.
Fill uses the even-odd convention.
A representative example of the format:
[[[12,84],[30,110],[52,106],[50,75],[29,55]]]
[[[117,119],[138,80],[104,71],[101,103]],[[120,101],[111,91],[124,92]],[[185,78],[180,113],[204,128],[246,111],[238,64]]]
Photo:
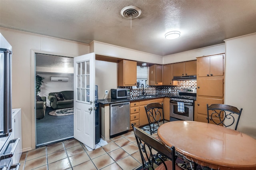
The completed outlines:
[[[150,134],[157,132],[159,122],[163,120],[164,123],[164,107],[163,103],[150,103],[145,106],[148,125],[150,127]]]

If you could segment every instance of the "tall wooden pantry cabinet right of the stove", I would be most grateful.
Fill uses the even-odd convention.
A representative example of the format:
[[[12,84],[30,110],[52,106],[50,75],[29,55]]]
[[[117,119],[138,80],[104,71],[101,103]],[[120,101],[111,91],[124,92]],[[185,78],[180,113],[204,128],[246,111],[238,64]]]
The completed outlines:
[[[224,57],[224,54],[197,57],[195,121],[208,123],[206,104],[224,104]]]

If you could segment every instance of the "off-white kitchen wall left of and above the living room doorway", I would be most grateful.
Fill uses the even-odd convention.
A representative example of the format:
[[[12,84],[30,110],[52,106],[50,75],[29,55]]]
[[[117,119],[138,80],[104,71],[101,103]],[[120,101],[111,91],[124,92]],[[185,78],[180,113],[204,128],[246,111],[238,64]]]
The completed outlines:
[[[22,148],[23,151],[31,150],[35,147],[35,68],[32,49],[62,56],[78,56],[89,53],[89,45],[6,28],[0,28],[0,32],[12,45],[12,108],[22,109]]]

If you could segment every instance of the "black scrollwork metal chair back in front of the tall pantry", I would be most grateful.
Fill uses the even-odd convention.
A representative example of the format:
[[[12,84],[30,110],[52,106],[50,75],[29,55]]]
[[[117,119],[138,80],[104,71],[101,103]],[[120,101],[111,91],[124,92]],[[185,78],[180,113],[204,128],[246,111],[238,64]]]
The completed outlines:
[[[209,113],[210,111],[212,112]],[[242,113],[242,108],[239,110],[236,107],[230,106],[230,105],[212,104],[208,106],[207,104],[208,123],[211,120],[216,125],[223,125],[224,127],[229,127],[234,124],[235,122],[234,115],[237,114],[238,118],[236,119],[236,127],[235,127],[235,130],[236,130],[241,113]]]

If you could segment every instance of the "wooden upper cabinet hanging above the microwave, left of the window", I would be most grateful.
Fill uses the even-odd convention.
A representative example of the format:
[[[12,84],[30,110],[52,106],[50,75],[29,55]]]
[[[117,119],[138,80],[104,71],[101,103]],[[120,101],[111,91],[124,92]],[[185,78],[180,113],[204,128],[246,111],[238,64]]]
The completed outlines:
[[[118,86],[135,86],[137,83],[137,62],[121,60],[118,62]]]

